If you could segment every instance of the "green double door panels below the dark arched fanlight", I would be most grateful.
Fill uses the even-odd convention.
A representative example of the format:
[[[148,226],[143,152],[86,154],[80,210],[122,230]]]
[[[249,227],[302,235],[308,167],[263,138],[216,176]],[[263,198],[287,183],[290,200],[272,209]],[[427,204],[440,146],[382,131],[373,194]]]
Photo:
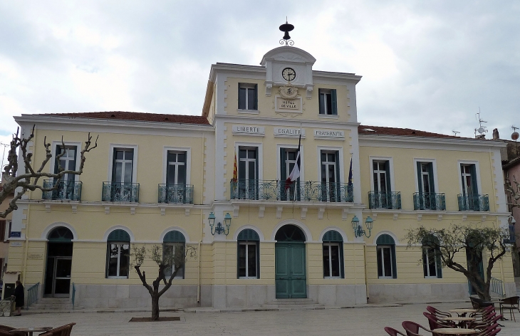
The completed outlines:
[[[307,298],[305,243],[276,243],[276,298]]]

